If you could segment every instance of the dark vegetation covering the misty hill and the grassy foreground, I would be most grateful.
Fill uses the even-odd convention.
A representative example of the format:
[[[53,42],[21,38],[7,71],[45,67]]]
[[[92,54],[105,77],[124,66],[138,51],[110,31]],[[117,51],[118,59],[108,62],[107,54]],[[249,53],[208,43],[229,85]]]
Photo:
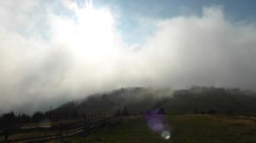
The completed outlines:
[[[113,92],[92,95],[81,101],[72,101],[57,109],[37,111],[32,116],[15,115],[14,112],[0,116],[0,140],[19,140],[38,135],[58,134],[64,130],[82,131],[88,120],[107,116],[125,118],[118,127],[95,129],[87,137],[79,135],[68,138],[69,142],[256,142],[256,95],[239,89],[193,86],[187,90],[122,88]],[[153,133],[145,119],[136,116],[148,115],[158,109],[167,116],[172,127],[172,140],[163,140]],[[186,116],[190,114],[189,116]],[[193,114],[193,115],[192,115]],[[180,116],[178,116],[180,115]],[[243,116],[237,116],[243,115]],[[103,116],[103,118],[102,118]],[[255,115],[254,115],[255,116]],[[16,132],[21,127],[50,123],[48,130]],[[72,122],[70,122],[72,121]],[[79,121],[78,126],[75,127]],[[74,123],[76,122],[76,123]],[[73,133],[73,132],[70,132]],[[60,140],[55,140],[60,141]]]

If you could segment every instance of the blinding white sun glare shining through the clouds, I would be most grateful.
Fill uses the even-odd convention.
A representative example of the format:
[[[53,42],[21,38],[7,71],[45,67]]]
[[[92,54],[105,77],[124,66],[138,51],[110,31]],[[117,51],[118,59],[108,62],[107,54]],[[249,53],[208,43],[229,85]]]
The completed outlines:
[[[80,60],[101,61],[117,51],[114,19],[107,8],[94,9],[89,3],[76,9],[75,19],[55,18],[53,25],[56,39]]]

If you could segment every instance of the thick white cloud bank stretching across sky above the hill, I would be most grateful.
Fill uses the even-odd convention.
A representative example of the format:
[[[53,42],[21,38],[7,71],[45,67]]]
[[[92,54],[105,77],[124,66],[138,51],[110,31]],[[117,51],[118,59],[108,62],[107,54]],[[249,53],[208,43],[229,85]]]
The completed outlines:
[[[29,14],[40,1],[27,1],[24,8],[20,1],[8,2],[0,4],[2,111],[119,86],[256,88],[256,25],[227,20],[222,7],[204,8],[202,16],[154,20],[154,33],[137,47],[120,39],[107,8],[88,11],[64,1],[75,16],[52,9],[35,13],[47,15],[47,40],[21,33],[37,27],[39,20]],[[36,104],[34,110],[42,108]]]

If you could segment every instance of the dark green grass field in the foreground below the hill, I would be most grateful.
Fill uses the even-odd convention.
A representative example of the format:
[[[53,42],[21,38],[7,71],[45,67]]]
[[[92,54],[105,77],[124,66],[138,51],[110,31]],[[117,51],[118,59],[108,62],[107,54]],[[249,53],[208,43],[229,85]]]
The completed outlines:
[[[144,118],[126,119],[114,128],[96,130],[87,137],[71,137],[67,142],[106,143],[255,143],[256,119],[243,116],[167,116],[172,137],[164,140],[153,133]],[[51,142],[61,142],[52,140]]]

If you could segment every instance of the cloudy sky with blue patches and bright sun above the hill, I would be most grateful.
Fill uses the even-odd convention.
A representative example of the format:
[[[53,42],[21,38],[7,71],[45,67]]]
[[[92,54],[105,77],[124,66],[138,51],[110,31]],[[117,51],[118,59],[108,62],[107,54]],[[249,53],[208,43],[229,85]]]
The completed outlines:
[[[0,113],[127,86],[256,91],[252,0],[0,1]]]

